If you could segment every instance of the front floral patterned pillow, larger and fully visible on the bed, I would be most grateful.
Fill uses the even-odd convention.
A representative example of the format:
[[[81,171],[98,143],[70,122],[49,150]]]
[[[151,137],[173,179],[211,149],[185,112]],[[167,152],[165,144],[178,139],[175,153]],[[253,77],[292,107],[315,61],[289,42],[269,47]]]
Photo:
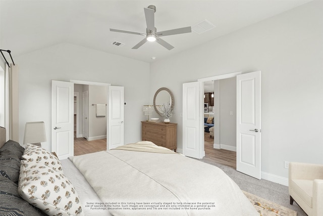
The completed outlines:
[[[18,192],[48,215],[84,215],[72,183],[42,163],[21,161]]]

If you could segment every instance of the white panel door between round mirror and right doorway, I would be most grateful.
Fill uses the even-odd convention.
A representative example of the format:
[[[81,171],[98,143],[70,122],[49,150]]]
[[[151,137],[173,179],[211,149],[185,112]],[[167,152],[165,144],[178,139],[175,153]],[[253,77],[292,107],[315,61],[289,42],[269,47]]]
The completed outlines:
[[[183,154],[203,158],[203,84],[200,81],[183,84]]]

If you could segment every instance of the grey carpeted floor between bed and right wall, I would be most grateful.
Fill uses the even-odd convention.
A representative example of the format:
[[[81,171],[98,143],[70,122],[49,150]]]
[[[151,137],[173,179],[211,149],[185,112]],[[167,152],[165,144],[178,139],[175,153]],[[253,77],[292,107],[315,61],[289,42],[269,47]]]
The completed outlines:
[[[241,190],[259,196],[268,201],[275,202],[279,205],[297,211],[297,216],[307,216],[307,214],[294,202],[293,205],[289,204],[288,187],[280,185],[267,180],[258,180],[242,174],[237,170],[215,162],[209,162],[203,159],[199,161],[209,163],[211,165],[221,168],[233,181],[237,183]]]

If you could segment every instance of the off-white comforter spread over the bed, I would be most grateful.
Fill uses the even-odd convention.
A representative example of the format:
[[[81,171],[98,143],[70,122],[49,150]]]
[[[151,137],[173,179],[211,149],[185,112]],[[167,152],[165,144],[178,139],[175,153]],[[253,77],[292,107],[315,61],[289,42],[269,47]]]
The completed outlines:
[[[114,149],[71,160],[113,215],[259,215],[220,168],[181,154]]]

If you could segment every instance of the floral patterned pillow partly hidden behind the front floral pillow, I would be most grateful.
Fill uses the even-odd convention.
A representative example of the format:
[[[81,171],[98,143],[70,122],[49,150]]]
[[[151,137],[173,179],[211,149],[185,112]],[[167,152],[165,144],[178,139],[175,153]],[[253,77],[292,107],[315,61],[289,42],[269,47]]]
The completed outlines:
[[[52,169],[60,171],[63,174],[60,160],[55,155],[39,146],[27,144],[21,159],[29,162],[42,163]]]

